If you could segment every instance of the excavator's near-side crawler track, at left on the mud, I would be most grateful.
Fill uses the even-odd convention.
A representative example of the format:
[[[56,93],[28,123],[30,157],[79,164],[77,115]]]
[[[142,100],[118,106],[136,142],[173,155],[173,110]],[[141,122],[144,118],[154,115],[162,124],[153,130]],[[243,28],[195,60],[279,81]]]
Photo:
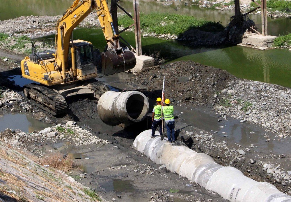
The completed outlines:
[[[27,98],[36,101],[36,104],[53,115],[67,113],[68,105],[65,98],[46,86],[39,84],[26,84],[23,86]]]

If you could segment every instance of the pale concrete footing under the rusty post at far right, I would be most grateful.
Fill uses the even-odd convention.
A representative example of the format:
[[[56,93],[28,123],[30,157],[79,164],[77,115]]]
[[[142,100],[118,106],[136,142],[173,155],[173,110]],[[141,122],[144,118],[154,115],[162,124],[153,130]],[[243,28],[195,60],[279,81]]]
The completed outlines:
[[[259,34],[254,34],[242,39],[242,44],[249,44],[252,46],[259,46],[262,48],[267,48],[272,46],[275,36],[263,36]]]

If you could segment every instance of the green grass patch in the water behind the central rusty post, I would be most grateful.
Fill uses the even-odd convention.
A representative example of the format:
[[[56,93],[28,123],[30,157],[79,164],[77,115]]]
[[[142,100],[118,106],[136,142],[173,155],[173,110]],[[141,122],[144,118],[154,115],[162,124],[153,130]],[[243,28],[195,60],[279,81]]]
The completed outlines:
[[[118,26],[127,27],[133,23],[127,15],[118,18]],[[205,19],[196,19],[192,16],[169,13],[149,13],[140,15],[141,29],[156,34],[181,35],[189,29],[216,32],[222,31],[224,26],[220,23]]]

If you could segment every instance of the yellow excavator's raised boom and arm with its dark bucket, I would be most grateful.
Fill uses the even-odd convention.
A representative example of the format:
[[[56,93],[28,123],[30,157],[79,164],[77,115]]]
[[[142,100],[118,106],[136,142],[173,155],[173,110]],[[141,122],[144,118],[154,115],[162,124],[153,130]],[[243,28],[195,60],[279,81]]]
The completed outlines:
[[[106,53],[102,53],[102,74],[113,74],[114,68],[120,70],[121,63],[125,65],[126,60],[129,60],[128,64],[131,64],[131,66],[135,62],[135,58],[134,61],[132,58],[133,54],[125,54],[124,50],[119,45],[119,35],[114,30],[113,21],[106,0],[75,0],[72,6],[65,12],[63,17],[58,20],[56,26],[55,66],[58,71],[61,71],[61,76],[64,80],[66,78],[66,64],[68,63],[72,32],[81,21],[83,21],[91,12],[93,12],[93,10],[96,10],[104,37],[108,44],[108,51]],[[73,58],[73,39],[71,53]],[[125,68],[125,66],[123,67]],[[75,72],[76,68],[74,66],[74,62],[72,69]]]

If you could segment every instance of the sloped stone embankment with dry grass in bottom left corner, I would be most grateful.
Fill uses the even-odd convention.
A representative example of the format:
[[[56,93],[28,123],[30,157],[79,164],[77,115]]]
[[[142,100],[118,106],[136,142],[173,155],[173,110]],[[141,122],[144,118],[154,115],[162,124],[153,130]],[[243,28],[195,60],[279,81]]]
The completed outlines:
[[[26,151],[16,151],[1,141],[0,146],[0,201],[104,201],[63,172],[34,162]]]

